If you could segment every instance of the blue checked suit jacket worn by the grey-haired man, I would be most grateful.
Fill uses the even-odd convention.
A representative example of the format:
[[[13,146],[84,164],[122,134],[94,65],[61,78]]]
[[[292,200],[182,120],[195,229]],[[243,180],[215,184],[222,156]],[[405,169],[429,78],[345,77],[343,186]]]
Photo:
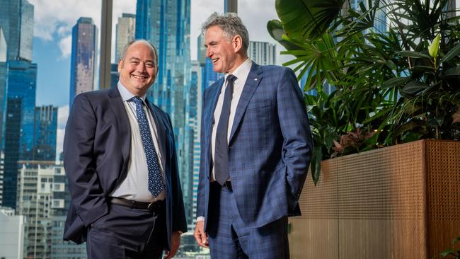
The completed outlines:
[[[224,79],[203,93],[197,217],[209,210],[214,109]],[[253,62],[230,132],[229,174],[246,226],[260,227],[300,215],[301,189],[313,143],[303,95],[294,72]],[[209,219],[212,220],[212,219]]]

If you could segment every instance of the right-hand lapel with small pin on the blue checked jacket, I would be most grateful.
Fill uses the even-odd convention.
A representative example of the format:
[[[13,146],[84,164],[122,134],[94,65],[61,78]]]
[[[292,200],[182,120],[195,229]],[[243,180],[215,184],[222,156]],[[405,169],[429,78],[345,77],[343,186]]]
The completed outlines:
[[[258,87],[260,80],[263,78],[262,69],[258,64],[253,62],[251,67],[251,71],[249,71],[248,79],[246,79],[246,84],[244,84],[243,92],[241,92],[240,100],[238,101],[238,105],[236,106],[236,112],[234,117],[234,123],[231,125],[231,133],[229,143],[231,139],[234,137],[236,129],[241,122],[241,118],[243,118],[244,113],[246,112],[246,107],[248,107],[248,103],[253,97],[255,89]]]

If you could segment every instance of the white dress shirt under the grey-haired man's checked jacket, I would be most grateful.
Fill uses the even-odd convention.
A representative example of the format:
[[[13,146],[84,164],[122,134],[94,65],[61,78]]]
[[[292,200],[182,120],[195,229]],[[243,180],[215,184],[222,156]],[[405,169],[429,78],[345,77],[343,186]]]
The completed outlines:
[[[246,84],[246,79],[248,79],[249,71],[251,71],[252,64],[253,63],[251,62],[251,59],[248,58],[239,67],[237,67],[233,73],[231,73],[234,76],[236,76],[236,80],[234,81],[234,92],[231,98],[229,127],[227,129],[227,143],[230,139],[231,126],[234,123],[236,107],[238,106],[238,102],[240,100],[241,93],[243,92],[244,84]],[[216,150],[217,125],[219,125],[220,113],[222,112],[222,105],[224,103],[227,77],[229,77],[229,74],[225,74],[224,85],[222,86],[222,90],[220,91],[219,99],[217,99],[216,110],[214,110],[214,125],[212,125],[211,135],[212,161],[214,161],[214,151]],[[211,170],[212,180],[215,180],[216,178],[214,177],[214,163],[212,163]]]

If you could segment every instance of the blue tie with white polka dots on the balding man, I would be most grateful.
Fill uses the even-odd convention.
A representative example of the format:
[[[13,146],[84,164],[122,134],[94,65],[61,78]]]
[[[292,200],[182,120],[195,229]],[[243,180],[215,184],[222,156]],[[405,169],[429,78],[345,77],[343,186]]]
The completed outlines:
[[[139,129],[141,130],[142,146],[144,146],[147,169],[149,171],[149,191],[156,197],[163,190],[163,177],[161,175],[158,155],[156,154],[154,142],[151,138],[149,122],[142,107],[142,100],[137,96],[134,96],[131,100],[136,103],[137,122],[139,122]]]

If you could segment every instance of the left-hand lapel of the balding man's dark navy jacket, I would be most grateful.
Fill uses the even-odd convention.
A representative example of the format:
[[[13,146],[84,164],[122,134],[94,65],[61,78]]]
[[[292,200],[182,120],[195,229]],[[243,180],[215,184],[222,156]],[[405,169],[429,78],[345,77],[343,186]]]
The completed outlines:
[[[127,170],[128,160],[130,159],[130,149],[131,149],[131,127],[130,121],[128,120],[128,115],[126,113],[125,105],[120,96],[118,89],[112,88],[109,91],[110,97],[110,106],[113,109],[115,120],[117,120],[118,130],[120,131],[120,136],[122,136],[122,156],[123,156],[123,168],[122,174]]]

